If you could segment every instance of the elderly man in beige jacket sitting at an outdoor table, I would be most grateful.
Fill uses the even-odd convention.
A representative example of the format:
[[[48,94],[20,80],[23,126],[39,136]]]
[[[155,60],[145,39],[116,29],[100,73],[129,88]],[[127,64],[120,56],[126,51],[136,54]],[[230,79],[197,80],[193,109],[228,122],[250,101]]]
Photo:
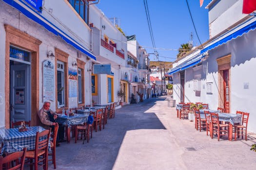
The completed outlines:
[[[56,124],[55,119],[58,118],[58,115],[55,114],[53,111],[50,109],[51,103],[50,102],[44,102],[43,107],[39,110],[38,116],[41,121],[41,126],[44,127],[45,129],[48,129],[51,127],[54,129],[54,126]],[[57,135],[57,146],[59,146],[59,142],[64,142],[64,127],[59,126],[59,131]]]

